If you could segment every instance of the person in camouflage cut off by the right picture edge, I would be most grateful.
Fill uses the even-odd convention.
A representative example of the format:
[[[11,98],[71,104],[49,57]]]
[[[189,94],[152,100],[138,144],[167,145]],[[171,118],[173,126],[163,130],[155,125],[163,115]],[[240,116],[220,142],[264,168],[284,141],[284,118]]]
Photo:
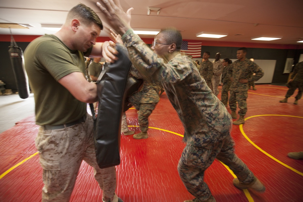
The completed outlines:
[[[295,65],[294,71],[291,75],[291,79],[288,81],[289,89],[285,95],[283,100],[280,102],[287,102],[287,98],[289,98],[292,94],[294,94],[295,90],[299,88],[298,94],[296,95],[296,100],[294,104],[298,104],[298,100],[302,97],[303,92],[303,61],[299,62]]]

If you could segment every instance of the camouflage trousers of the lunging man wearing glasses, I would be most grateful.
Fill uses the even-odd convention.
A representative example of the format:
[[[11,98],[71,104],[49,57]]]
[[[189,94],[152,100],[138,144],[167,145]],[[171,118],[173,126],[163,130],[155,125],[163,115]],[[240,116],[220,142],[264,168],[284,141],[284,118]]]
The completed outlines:
[[[227,165],[241,182],[249,183],[254,179],[254,174],[235,154],[234,145],[235,142],[229,135],[213,145],[197,147],[187,144],[184,148],[178,164],[178,173],[188,192],[199,201],[205,201],[211,196],[203,177],[215,158]]]

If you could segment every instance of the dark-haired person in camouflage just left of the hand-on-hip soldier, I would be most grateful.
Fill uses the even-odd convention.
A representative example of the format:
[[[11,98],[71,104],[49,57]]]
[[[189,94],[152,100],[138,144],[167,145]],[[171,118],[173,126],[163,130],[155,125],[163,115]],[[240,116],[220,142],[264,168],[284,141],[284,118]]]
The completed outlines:
[[[228,91],[231,85],[230,75],[227,73],[228,68],[230,67],[230,64],[232,61],[229,58],[224,58],[222,61],[222,64],[224,66],[223,72],[222,72],[222,91],[221,91],[221,102],[224,104],[225,107],[227,107],[228,102]]]

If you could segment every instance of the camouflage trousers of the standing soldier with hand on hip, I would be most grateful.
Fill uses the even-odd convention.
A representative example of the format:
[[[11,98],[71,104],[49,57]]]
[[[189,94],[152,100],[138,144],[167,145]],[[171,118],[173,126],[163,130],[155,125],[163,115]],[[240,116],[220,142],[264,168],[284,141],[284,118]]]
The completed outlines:
[[[245,116],[247,112],[247,91],[240,91],[240,92],[235,92],[235,91],[230,91],[229,92],[229,107],[231,111],[236,111],[237,109],[237,102],[238,102],[238,107],[240,108],[238,114],[240,116]]]

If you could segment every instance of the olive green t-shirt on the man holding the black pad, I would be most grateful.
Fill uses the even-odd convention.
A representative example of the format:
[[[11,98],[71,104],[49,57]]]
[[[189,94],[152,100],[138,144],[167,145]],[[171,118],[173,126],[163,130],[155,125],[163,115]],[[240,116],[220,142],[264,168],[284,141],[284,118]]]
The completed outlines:
[[[36,38],[25,49],[25,70],[34,92],[36,124],[61,125],[85,115],[86,103],[58,83],[72,72],[82,72],[85,77],[83,56],[83,52],[71,50],[55,35]]]

